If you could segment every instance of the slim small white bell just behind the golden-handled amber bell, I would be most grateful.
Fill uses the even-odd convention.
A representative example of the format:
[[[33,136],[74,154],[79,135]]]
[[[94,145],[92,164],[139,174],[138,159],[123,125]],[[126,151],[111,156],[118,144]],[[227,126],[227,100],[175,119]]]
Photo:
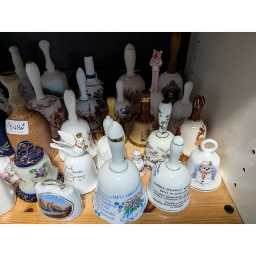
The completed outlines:
[[[122,80],[116,82],[116,91],[115,113],[123,120],[124,129],[128,134],[133,127],[133,116],[131,104],[123,96],[124,84]]]

